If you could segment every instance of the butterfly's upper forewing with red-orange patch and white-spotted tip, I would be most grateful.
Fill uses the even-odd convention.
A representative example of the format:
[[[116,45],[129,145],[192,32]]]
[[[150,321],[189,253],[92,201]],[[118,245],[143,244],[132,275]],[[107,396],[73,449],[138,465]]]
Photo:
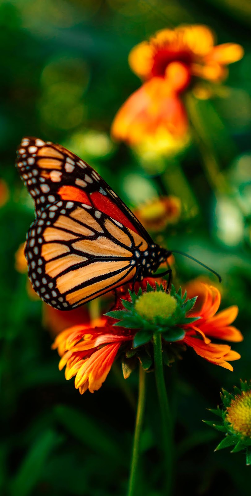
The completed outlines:
[[[59,200],[79,201],[151,237],[125,203],[86,162],[60,145],[24,138],[16,162],[21,179],[35,202],[36,213]]]

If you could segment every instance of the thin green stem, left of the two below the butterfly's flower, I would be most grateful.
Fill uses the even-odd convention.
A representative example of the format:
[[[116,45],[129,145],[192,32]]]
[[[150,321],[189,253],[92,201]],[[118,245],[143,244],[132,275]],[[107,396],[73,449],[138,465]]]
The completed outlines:
[[[146,390],[146,372],[139,366],[139,389],[138,389],[138,406],[135,422],[135,431],[133,439],[133,449],[131,458],[131,469],[127,496],[136,496],[137,493],[137,468],[139,461],[139,442],[142,430],[144,410],[145,410],[145,390]]]

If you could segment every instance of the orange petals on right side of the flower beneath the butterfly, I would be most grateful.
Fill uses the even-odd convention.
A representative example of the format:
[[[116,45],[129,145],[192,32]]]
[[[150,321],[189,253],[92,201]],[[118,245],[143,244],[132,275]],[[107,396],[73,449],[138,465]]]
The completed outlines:
[[[209,337],[236,343],[243,340],[241,332],[230,325],[238,314],[238,307],[234,305],[216,314],[221,301],[220,292],[217,288],[207,284],[198,282],[197,287],[194,284],[193,294],[191,293],[190,291],[189,298],[200,295],[202,306],[198,309],[195,305],[188,315],[189,317],[200,318],[185,326],[184,343],[191,346],[197,355],[209,362],[233,371],[233,367],[227,360],[238,360],[240,358],[239,353],[231,350],[228,345],[211,343]]]

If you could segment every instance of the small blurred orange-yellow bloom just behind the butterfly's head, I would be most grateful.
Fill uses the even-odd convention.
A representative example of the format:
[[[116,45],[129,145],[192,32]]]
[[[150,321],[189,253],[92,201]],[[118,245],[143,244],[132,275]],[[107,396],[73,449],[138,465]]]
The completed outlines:
[[[154,198],[134,210],[137,219],[148,231],[161,231],[167,224],[178,221],[181,212],[181,201],[176,196]]]

